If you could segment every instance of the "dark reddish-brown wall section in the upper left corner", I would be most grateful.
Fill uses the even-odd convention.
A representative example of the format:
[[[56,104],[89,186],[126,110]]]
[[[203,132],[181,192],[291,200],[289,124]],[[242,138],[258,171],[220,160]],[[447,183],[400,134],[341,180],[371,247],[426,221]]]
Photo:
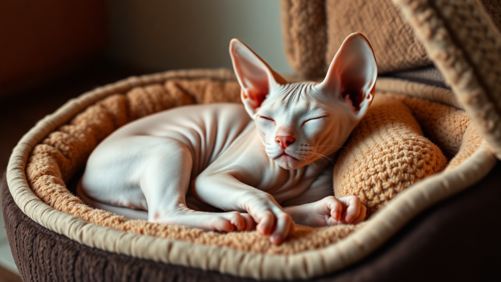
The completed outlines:
[[[88,65],[107,37],[104,0],[0,1],[0,97]]]

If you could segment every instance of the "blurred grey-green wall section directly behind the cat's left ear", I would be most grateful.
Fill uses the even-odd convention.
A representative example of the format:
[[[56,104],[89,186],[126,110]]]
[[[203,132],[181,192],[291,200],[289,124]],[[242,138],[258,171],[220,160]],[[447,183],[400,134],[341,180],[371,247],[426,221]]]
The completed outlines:
[[[278,0],[107,0],[108,55],[145,71],[231,68],[238,38],[276,71],[292,74]]]

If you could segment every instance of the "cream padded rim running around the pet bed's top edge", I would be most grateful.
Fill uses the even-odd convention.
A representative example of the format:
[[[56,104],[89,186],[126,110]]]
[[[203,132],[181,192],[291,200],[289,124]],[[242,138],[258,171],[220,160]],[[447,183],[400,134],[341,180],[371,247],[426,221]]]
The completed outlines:
[[[482,179],[496,162],[489,147],[483,143],[473,155],[456,168],[426,178],[401,192],[385,208],[376,213],[365,226],[347,238],[322,249],[293,255],[249,253],[118,231],[94,225],[55,210],[33,193],[25,175],[26,164],[35,145],[50,132],[104,97],[117,92],[125,92],[135,86],[159,83],[174,75],[207,78],[207,72],[203,70],[131,77],[72,99],[53,114],[40,120],[20,140],[11,155],[7,169],[8,185],[20,209],[45,228],[81,244],[105,251],[258,279],[311,278],[339,270],[367,256],[416,214]],[[226,79],[231,76],[231,73],[218,70],[213,71],[212,76],[214,79]],[[384,81],[391,82],[387,79],[380,79],[380,82],[383,82],[380,85],[384,85]],[[398,83],[396,80],[393,82]],[[455,101],[453,97],[450,97],[452,95],[450,91],[439,91],[433,94],[431,87],[422,89],[423,95],[427,98],[438,95],[437,97],[441,97],[442,101]]]

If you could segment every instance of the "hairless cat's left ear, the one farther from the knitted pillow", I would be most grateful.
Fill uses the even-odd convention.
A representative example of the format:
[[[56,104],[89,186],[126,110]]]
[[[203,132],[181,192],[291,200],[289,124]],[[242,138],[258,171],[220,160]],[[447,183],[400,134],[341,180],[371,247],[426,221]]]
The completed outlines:
[[[233,69],[241,87],[241,98],[252,118],[273,87],[287,81],[238,39],[229,42]]]

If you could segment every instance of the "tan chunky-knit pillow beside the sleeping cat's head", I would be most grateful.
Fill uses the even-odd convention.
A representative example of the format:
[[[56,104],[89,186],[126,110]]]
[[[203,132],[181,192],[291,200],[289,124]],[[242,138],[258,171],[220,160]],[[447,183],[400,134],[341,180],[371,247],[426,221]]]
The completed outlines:
[[[423,136],[411,110],[385,94],[374,97],[345,147],[334,169],[334,194],[358,196],[368,214],[447,165],[440,149]]]

